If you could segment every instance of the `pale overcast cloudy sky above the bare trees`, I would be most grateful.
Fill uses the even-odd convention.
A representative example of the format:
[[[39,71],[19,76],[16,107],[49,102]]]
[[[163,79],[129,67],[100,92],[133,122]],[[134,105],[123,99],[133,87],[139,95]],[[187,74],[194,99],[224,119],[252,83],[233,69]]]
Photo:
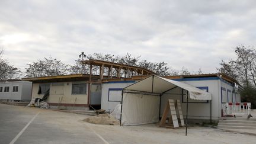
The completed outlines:
[[[0,48],[21,69],[81,52],[141,56],[216,72],[233,48],[255,46],[256,1],[0,1]]]

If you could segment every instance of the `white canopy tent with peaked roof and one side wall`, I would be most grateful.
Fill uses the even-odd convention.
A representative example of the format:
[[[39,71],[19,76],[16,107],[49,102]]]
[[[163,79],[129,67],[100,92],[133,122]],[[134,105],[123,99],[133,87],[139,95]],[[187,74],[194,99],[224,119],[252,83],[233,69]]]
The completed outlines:
[[[159,121],[161,95],[180,87],[193,100],[212,100],[212,94],[183,82],[151,75],[123,89],[120,124],[137,125]]]

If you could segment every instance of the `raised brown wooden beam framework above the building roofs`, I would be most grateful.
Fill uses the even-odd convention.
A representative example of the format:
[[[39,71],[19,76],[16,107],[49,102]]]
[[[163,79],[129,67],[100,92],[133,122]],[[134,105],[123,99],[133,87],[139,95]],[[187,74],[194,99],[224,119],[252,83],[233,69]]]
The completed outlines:
[[[100,68],[100,79],[107,78],[131,78],[135,75],[152,75],[155,74],[148,69],[139,66],[124,65],[121,63],[107,62],[103,60],[89,59],[82,61],[83,64],[89,65],[89,75],[92,75],[92,67]],[[104,76],[104,70],[107,70],[107,75]]]

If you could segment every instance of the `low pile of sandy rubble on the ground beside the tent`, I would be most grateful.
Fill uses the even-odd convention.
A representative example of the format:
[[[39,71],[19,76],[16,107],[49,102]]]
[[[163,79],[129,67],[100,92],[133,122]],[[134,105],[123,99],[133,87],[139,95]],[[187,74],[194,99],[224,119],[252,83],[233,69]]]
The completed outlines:
[[[109,124],[109,125],[118,125],[120,121],[114,119],[110,114],[99,114],[98,116],[88,117],[84,119],[85,122],[94,123],[94,124]]]

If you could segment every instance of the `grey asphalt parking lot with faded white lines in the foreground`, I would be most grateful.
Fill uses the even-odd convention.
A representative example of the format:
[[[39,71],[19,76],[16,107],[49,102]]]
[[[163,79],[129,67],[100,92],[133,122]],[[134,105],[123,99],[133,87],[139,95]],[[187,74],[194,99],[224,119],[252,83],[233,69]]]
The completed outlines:
[[[165,129],[155,124],[85,123],[89,116],[0,104],[0,143],[255,143],[256,136],[206,127]]]

